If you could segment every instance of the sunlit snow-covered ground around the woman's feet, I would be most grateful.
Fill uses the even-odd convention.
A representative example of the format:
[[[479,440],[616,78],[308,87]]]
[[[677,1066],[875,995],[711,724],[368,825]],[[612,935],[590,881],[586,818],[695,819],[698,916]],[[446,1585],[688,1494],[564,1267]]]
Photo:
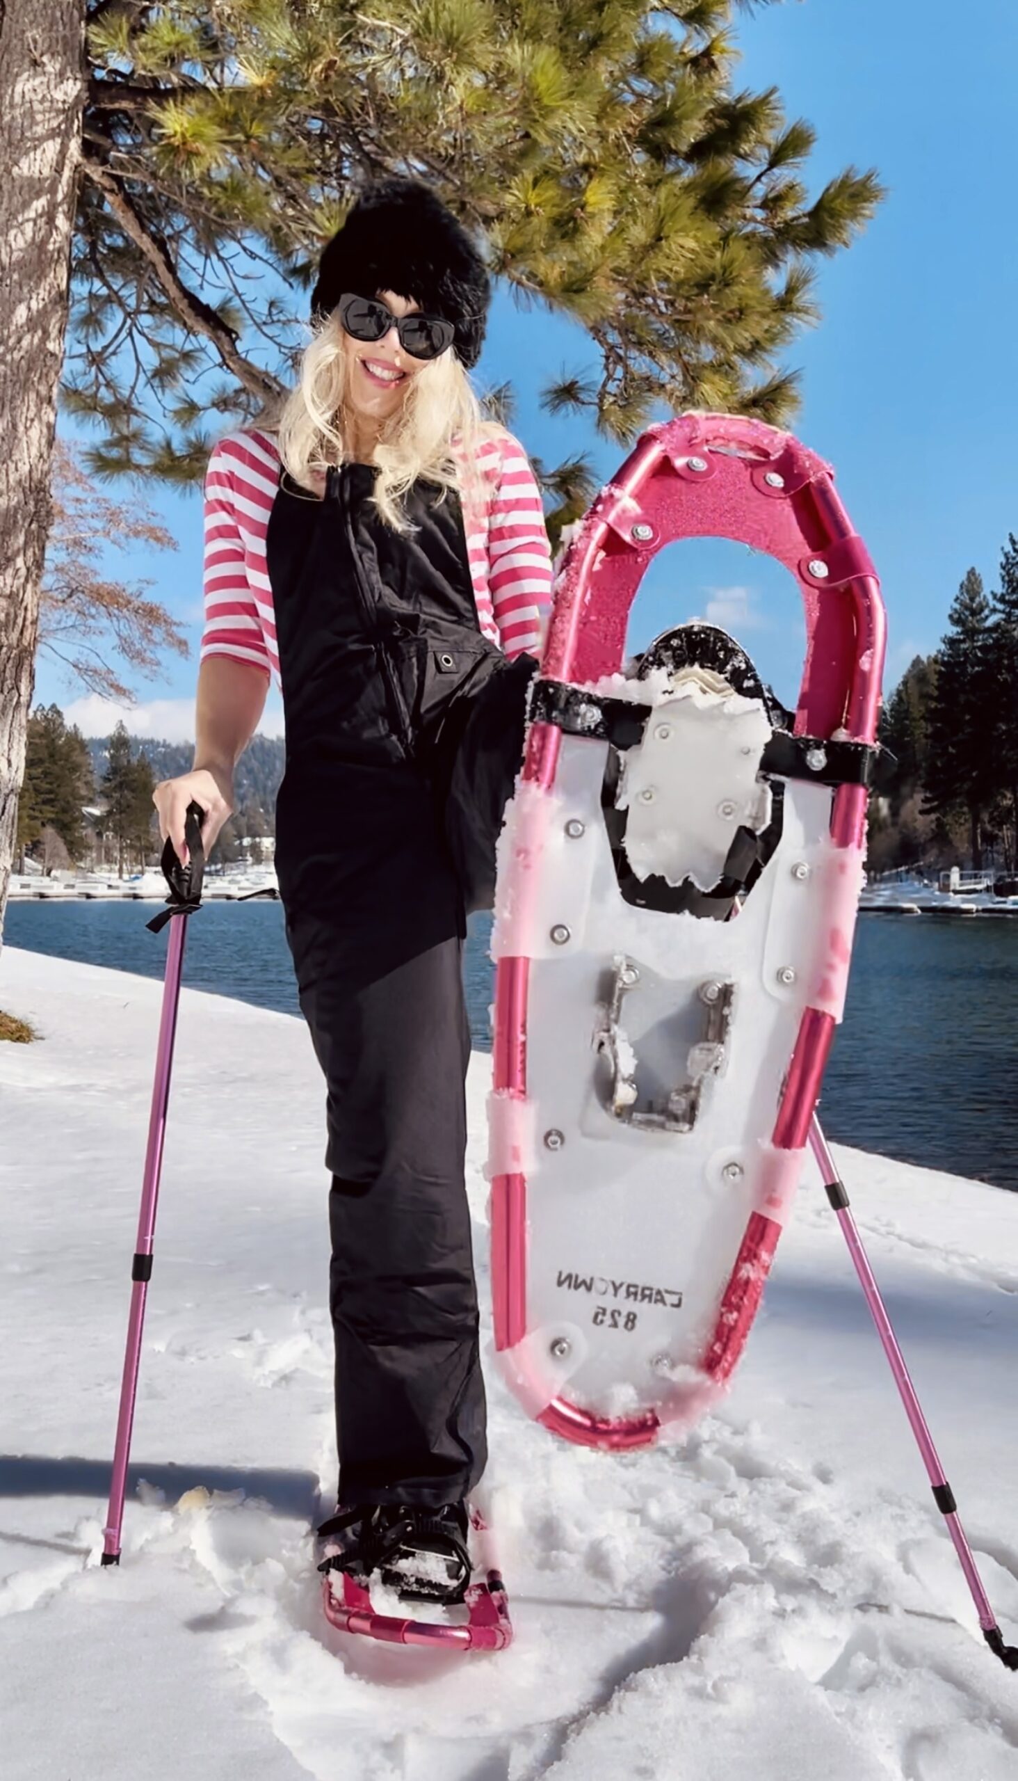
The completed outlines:
[[[157,944],[153,940],[153,944]],[[352,1642],[308,1530],[335,1478],[322,1092],[304,1028],[185,992],[125,1558],[100,1569],[160,985],[5,949],[5,1781],[1014,1781],[975,1615],[815,1177],[723,1414],[609,1457],[489,1370],[500,1656]],[[486,1281],[484,1092],[470,1188]],[[931,1083],[931,1097],[936,1083]],[[1018,1639],[1018,1199],[840,1152],[1006,1637]]]

